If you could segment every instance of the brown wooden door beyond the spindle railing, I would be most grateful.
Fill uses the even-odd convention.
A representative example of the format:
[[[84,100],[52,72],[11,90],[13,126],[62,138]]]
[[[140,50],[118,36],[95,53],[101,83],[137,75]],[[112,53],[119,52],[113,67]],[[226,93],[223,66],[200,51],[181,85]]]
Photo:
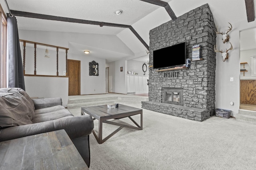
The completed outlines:
[[[80,61],[68,60],[68,96],[80,95]]]

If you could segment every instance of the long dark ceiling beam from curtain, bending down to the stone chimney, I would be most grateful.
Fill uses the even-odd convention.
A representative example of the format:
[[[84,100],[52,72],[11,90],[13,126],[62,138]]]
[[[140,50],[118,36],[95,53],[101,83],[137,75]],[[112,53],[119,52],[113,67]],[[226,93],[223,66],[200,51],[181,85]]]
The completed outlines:
[[[140,35],[135,31],[135,29],[131,25],[100,22],[100,21],[90,21],[90,20],[80,20],[80,19],[76,19],[76,18],[50,16],[50,15],[36,14],[36,13],[31,13],[31,12],[22,12],[22,11],[15,11],[15,10],[10,10],[10,11],[11,11],[12,15],[20,16],[20,17],[37,18],[37,19],[42,19],[42,20],[64,21],[64,22],[72,22],[72,23],[83,23],[83,24],[91,24],[91,25],[100,25],[100,27],[109,26],[109,27],[129,28],[132,31],[132,33],[134,33],[134,35],[140,40],[140,42],[146,47],[146,49],[149,49],[147,43],[142,39],[142,37],[140,37]]]

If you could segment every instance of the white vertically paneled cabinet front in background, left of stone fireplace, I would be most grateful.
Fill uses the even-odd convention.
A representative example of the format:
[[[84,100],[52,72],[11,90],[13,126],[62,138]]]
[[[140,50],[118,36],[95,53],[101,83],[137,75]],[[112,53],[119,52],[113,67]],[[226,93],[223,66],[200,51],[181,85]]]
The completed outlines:
[[[148,76],[127,74],[127,94],[148,93]]]

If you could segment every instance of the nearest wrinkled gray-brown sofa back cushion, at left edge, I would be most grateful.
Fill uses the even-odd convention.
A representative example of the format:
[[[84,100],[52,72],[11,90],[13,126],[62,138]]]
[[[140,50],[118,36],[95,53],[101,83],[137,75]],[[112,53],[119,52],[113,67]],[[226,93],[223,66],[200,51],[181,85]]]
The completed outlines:
[[[34,110],[24,102],[24,96],[0,92],[0,128],[31,124]]]

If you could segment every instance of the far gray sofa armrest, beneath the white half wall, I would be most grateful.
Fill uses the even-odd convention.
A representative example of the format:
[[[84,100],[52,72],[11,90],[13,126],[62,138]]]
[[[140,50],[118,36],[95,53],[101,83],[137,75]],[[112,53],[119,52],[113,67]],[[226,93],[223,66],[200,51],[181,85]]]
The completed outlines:
[[[35,109],[42,109],[46,107],[62,105],[61,98],[46,98],[46,99],[32,99]]]

